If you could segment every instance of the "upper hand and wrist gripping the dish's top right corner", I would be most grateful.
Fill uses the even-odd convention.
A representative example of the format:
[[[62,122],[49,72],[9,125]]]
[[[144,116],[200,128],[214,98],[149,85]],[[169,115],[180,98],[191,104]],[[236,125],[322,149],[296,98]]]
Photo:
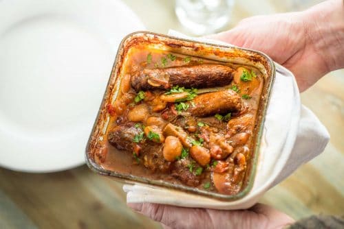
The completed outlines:
[[[304,12],[253,16],[208,38],[263,51],[294,73],[302,92],[344,67],[343,1],[325,1]]]

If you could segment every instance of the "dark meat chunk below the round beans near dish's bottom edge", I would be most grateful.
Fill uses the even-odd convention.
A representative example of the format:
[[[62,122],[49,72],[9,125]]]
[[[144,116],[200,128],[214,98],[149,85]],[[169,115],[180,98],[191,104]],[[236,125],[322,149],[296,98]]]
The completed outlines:
[[[190,171],[190,165],[194,163],[197,165],[194,160],[189,158],[183,158],[174,163],[171,175],[181,182],[189,186],[197,186],[200,184],[203,174],[196,176],[193,172]]]

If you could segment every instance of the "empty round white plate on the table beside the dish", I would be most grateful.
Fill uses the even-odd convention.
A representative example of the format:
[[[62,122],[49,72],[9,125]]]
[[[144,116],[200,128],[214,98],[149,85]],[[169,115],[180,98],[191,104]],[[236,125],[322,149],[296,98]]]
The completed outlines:
[[[0,165],[82,165],[120,40],[142,29],[116,0],[0,0]]]

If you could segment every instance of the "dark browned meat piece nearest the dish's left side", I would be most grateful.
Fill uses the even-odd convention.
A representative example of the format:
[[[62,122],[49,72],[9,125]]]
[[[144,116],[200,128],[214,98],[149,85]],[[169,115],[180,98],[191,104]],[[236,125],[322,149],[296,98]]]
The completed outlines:
[[[132,152],[134,146],[133,138],[136,134],[142,132],[142,130],[135,128],[133,125],[133,123],[116,125],[116,127],[109,132],[109,143],[114,145],[117,149]]]

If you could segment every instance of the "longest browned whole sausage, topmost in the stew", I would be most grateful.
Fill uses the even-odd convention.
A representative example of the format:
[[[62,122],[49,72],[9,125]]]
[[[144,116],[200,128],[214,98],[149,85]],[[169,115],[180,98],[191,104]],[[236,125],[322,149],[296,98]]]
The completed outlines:
[[[131,75],[131,86],[136,91],[167,89],[175,85],[186,88],[224,86],[232,82],[233,72],[234,69],[222,64],[143,69]]]

